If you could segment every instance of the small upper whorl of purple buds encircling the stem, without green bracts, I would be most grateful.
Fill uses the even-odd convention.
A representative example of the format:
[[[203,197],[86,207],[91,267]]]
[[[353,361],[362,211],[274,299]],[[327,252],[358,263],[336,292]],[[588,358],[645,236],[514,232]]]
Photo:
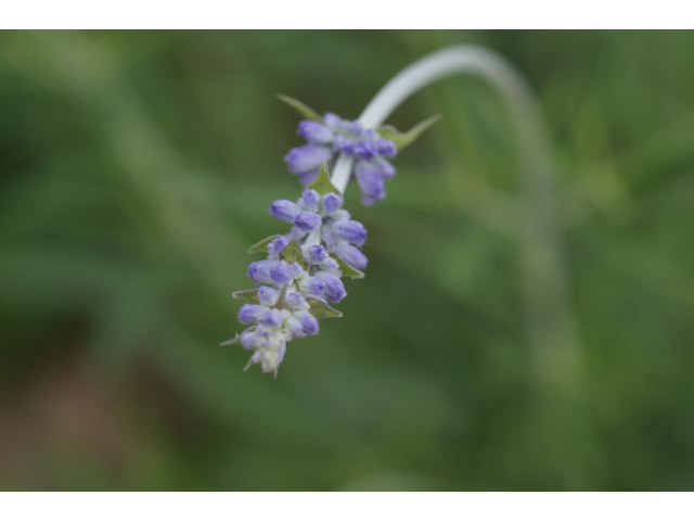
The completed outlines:
[[[323,162],[337,153],[356,157],[355,177],[359,183],[361,201],[372,205],[386,196],[384,182],[395,177],[395,167],[385,157],[395,157],[397,148],[372,128],[359,122],[348,122],[327,113],[322,123],[305,119],[297,134],[307,144],[290,150],[284,157],[292,174],[307,186],[318,177]]]

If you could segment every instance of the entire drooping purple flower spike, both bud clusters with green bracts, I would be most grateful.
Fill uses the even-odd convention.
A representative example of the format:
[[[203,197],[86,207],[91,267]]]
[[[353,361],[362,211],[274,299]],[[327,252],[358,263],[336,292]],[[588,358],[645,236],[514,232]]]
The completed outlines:
[[[390,126],[376,131],[335,114],[321,117],[300,101],[279,98],[307,118],[298,128],[307,144],[284,157],[290,171],[307,188],[297,202],[279,200],[270,205],[270,215],[291,223],[292,229],[248,250],[267,254],[248,266],[247,275],[258,288],[233,294],[250,302],[239,312],[239,320],[248,328],[221,344],[241,344],[253,351],[244,370],[259,364],[262,372],[273,372],[275,378],[292,339],[317,334],[320,319],[342,317],[331,307],[347,296],[342,279],[362,278],[360,270],[368,264],[360,250],[367,230],[343,209],[343,196],[331,183],[327,163],[337,153],[355,157],[361,200],[374,204],[385,198],[384,182],[395,176],[386,157],[394,157],[437,119],[422,122],[406,134]]]

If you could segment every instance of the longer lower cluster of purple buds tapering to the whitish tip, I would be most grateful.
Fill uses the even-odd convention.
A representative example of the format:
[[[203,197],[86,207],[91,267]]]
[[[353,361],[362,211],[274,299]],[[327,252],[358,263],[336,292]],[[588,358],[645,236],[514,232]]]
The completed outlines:
[[[323,187],[330,187],[325,166],[321,173]],[[262,372],[277,377],[292,339],[317,334],[320,318],[342,316],[329,302],[347,296],[342,277],[362,277],[359,269],[368,262],[358,247],[367,230],[342,204],[336,190],[321,195],[309,187],[296,203],[280,200],[270,205],[273,217],[294,226],[286,236],[250,249],[268,254],[248,266],[247,275],[259,288],[234,293],[252,302],[239,312],[239,320],[250,327],[224,344],[240,343],[254,352],[246,369],[260,364]]]

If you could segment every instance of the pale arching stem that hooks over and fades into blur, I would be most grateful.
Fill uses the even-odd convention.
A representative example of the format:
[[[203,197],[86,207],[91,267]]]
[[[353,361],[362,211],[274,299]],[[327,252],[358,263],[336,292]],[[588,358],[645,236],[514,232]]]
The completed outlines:
[[[560,440],[579,436],[591,445],[591,435],[587,432],[583,407],[579,405],[582,356],[568,294],[560,199],[553,185],[544,117],[531,88],[500,54],[477,46],[452,46],[417,60],[397,74],[364,109],[359,122],[367,128],[376,128],[413,93],[458,74],[486,80],[504,100],[512,116],[520,176],[518,239],[524,312],[539,392],[537,427],[541,432],[531,436],[535,443],[554,445],[552,454],[547,456],[553,465],[543,466],[543,470],[564,474],[553,478],[575,485],[587,478],[587,458],[574,461],[574,475],[566,475],[563,468],[566,466],[562,462],[579,453],[586,455],[591,448],[577,452],[575,445],[561,446]],[[345,155],[335,164],[331,180],[342,192],[349,181],[352,164],[354,160]],[[543,447],[537,449],[543,455]]]

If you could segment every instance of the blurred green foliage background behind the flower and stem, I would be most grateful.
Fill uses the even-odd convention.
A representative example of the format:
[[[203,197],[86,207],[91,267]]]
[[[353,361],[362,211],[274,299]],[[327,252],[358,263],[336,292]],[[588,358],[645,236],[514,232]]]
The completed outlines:
[[[299,117],[274,93],[355,118],[454,42],[539,94],[573,326],[534,345],[509,118],[451,78],[389,119],[445,115],[387,199],[347,190],[370,266],[344,318],[277,380],[242,372],[218,346],[241,331],[231,292],[285,231],[270,202],[299,193]],[[692,490],[693,50],[691,31],[0,33],[0,487]]]

